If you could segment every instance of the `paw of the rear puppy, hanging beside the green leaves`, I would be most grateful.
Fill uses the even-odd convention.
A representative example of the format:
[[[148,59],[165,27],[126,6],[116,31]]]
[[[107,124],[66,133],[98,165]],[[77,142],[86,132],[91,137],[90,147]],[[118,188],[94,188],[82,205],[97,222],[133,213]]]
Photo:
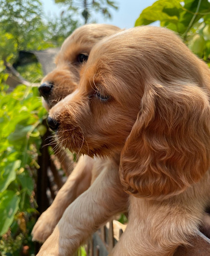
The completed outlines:
[[[43,243],[52,234],[58,221],[59,219],[55,217],[55,212],[51,208],[48,208],[36,222],[32,230],[32,240]]]

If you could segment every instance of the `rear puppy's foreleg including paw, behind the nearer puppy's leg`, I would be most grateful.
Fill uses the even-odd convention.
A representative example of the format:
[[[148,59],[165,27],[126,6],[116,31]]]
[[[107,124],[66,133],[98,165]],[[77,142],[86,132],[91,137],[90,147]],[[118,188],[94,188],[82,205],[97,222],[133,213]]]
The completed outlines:
[[[44,242],[53,232],[67,206],[90,186],[93,162],[94,160],[87,156],[80,158],[52,205],[36,222],[32,230],[34,241]]]

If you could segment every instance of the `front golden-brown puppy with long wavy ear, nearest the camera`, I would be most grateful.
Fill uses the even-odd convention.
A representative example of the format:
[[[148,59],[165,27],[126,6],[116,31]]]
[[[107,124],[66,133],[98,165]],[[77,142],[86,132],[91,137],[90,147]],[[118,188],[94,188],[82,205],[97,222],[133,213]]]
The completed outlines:
[[[109,255],[169,256],[190,244],[209,205],[209,78],[166,28],[136,27],[95,45],[78,89],[48,123],[69,150],[118,166],[66,208],[38,256],[72,255],[107,219],[118,177],[129,222]]]

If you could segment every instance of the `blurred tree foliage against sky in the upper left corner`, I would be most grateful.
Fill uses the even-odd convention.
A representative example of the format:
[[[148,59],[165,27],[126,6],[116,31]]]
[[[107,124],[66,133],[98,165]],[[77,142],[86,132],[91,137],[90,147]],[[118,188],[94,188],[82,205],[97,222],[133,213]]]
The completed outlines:
[[[39,0],[0,0],[2,59],[14,62],[20,50],[44,50],[61,45],[78,25],[70,17],[48,20],[42,9]]]

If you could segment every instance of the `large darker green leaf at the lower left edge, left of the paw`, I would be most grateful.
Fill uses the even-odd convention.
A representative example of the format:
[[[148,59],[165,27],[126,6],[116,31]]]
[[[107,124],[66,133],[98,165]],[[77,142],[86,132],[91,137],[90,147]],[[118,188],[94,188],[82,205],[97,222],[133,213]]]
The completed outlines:
[[[0,193],[0,236],[5,234],[18,210],[19,198],[11,190]]]

